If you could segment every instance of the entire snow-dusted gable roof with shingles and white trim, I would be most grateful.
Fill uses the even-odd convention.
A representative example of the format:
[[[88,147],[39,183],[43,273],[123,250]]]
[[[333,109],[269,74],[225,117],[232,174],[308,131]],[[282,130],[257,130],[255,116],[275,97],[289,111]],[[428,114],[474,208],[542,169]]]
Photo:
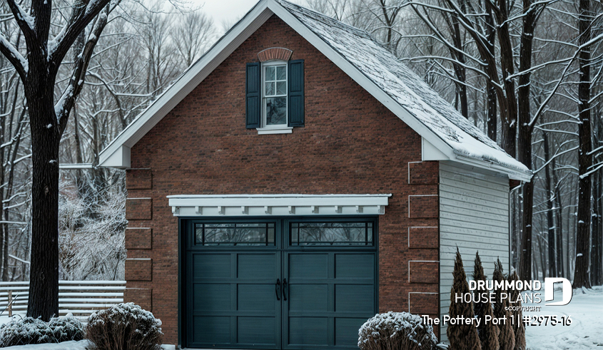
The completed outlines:
[[[366,31],[284,0],[261,0],[100,154],[100,166],[129,168],[129,150],[230,53],[275,14],[423,138],[434,160],[453,160],[529,180],[525,165],[464,118]],[[430,148],[431,149],[431,148]],[[423,157],[425,159],[425,155]]]

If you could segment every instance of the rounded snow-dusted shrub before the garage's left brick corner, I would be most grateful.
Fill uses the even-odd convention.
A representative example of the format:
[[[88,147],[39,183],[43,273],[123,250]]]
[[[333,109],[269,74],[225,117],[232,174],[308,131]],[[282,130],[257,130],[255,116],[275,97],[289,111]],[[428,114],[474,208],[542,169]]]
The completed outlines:
[[[91,314],[86,325],[91,350],[158,350],[161,320],[133,303],[122,303]]]

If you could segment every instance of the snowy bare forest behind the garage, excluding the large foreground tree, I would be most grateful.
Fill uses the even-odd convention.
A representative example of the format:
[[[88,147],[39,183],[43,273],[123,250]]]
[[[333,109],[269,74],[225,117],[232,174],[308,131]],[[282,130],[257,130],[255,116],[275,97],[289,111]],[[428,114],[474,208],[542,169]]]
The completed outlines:
[[[21,6],[27,7],[28,0],[23,2]],[[295,2],[368,31],[507,152],[531,163],[533,197],[520,184],[512,190],[514,267],[520,264],[522,239],[531,230],[532,276],[573,279],[577,243],[585,242],[578,230],[579,188],[589,178],[587,268],[590,282],[603,284],[599,1]],[[69,11],[70,0],[55,3],[56,11]],[[6,2],[0,7],[0,33],[24,48]],[[113,10],[61,140],[61,279],[124,278],[125,174],[94,168],[98,153],[233,24],[215,23],[202,6],[186,1],[123,0]],[[51,28],[58,31],[61,26]],[[76,47],[88,35],[89,30]],[[589,57],[581,56],[585,51]],[[56,98],[69,81],[70,65],[64,63],[59,71]],[[589,76],[584,81],[586,68]],[[589,112],[587,136],[592,144],[581,158],[584,110]],[[589,164],[584,163],[586,158]],[[0,198],[1,280],[27,280],[31,133],[23,86],[4,56],[0,56]],[[532,215],[525,207],[532,208]]]

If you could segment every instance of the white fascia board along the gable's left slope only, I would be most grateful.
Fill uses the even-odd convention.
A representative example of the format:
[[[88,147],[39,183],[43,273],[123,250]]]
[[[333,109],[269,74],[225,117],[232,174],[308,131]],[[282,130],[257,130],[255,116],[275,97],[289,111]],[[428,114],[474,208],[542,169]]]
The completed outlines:
[[[111,168],[129,168],[128,164],[108,163],[110,158],[125,145],[129,148],[143,138],[164,116],[178,105],[196,88],[214,69],[233,53],[251,34],[267,21],[273,12],[268,9],[266,0],[260,1],[223,36],[204,56],[189,67],[176,83],[173,83],[155,102],[130,123],[115,140],[99,155],[99,166]]]

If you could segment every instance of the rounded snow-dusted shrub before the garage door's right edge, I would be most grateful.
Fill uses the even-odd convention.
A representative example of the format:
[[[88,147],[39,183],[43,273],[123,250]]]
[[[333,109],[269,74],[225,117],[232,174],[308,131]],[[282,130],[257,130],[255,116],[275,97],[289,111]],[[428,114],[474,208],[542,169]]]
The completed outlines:
[[[361,350],[432,350],[435,344],[433,327],[407,312],[376,314],[358,331]]]

